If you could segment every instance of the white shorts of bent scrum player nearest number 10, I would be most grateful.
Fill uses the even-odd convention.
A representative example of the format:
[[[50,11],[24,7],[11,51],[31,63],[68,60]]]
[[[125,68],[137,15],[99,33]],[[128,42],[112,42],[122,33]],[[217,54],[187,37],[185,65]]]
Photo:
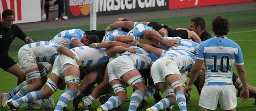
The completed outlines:
[[[156,60],[151,67],[151,76],[153,78],[154,84],[158,82],[166,82],[165,76],[171,74],[180,74],[177,63],[170,57],[164,56]]]

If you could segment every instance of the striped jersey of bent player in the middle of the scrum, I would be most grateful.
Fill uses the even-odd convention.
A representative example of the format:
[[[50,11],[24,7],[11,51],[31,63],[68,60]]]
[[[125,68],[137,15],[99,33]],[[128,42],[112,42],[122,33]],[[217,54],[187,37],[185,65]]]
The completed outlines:
[[[149,69],[152,62],[155,62],[158,57],[151,52],[146,51],[141,47],[131,45],[130,47],[136,48],[137,53],[130,53],[128,51],[124,52],[120,56],[130,56],[135,68],[139,71],[142,69]],[[139,57],[138,57],[139,56]]]

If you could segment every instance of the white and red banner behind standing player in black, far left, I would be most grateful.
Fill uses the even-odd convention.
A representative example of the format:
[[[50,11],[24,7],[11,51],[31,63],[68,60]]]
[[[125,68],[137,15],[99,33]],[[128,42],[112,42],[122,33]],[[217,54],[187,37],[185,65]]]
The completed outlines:
[[[3,10],[10,9],[14,13],[13,23],[41,21],[40,0],[0,0],[0,21]]]

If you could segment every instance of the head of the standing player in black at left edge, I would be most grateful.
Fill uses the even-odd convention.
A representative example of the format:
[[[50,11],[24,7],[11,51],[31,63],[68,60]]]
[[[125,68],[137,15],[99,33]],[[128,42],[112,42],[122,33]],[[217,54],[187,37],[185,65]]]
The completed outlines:
[[[13,25],[14,14],[12,10],[4,10],[2,13],[2,25],[4,28],[10,28]]]

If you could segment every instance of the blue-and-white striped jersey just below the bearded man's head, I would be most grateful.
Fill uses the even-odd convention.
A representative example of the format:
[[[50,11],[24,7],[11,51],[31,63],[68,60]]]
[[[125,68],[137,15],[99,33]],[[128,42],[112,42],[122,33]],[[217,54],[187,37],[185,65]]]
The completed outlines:
[[[171,47],[165,46],[163,43],[158,42],[158,47],[164,50],[187,50],[196,53],[197,47],[199,46],[199,43],[191,41],[189,39],[181,39],[181,37],[164,37],[164,39],[181,41],[180,44],[177,44],[177,47],[173,46],[174,49],[171,49]]]

